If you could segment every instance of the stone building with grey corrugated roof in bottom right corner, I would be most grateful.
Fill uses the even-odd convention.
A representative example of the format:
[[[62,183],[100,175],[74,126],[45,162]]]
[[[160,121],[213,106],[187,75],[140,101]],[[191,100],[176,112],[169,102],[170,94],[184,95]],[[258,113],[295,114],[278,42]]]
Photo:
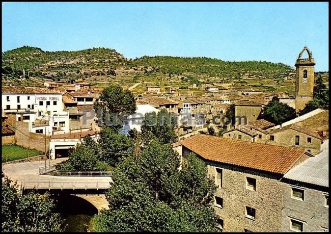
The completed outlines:
[[[328,140],[322,148],[281,180],[286,184],[283,231],[328,231]]]

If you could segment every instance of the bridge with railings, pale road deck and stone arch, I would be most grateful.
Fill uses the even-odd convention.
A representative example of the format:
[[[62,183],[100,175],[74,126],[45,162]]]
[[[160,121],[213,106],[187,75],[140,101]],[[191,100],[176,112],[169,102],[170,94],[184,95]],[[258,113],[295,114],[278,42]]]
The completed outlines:
[[[67,159],[2,165],[3,172],[17,181],[21,192],[35,190],[54,195],[70,194],[87,200],[98,211],[108,209],[104,193],[113,183],[112,171],[57,171],[55,165]]]

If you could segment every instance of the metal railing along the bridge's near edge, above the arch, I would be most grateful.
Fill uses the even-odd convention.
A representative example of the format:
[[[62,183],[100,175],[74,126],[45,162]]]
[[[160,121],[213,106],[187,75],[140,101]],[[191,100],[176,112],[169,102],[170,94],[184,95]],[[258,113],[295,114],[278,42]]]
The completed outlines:
[[[22,181],[22,188],[26,189],[108,189],[111,188],[109,181]]]

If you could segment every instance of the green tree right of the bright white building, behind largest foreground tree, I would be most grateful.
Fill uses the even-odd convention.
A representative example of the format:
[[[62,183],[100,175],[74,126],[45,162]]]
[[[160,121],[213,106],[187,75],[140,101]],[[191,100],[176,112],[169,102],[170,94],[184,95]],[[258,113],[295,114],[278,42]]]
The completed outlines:
[[[155,112],[145,114],[141,131],[145,144],[152,139],[158,139],[163,144],[177,141],[175,119],[166,109],[162,109],[157,115]]]

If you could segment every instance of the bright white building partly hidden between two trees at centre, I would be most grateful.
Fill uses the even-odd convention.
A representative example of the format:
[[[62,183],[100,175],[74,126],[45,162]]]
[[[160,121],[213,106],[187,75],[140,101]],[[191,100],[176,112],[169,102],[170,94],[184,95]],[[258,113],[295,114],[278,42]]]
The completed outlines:
[[[128,132],[133,128],[140,132],[145,114],[150,112],[155,112],[157,114],[158,111],[158,109],[152,107],[149,104],[137,105],[137,110],[135,111],[135,113],[127,117],[127,120],[122,126],[121,133],[127,135]]]

